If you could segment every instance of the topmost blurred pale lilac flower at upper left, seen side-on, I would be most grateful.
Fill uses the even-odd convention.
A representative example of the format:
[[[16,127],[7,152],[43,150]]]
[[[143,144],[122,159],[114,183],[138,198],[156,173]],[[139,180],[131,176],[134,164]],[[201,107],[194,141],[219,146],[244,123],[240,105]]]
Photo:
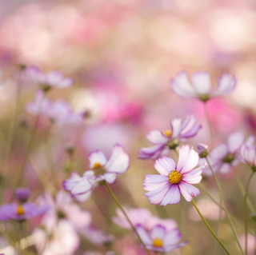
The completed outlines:
[[[52,87],[64,89],[73,85],[74,80],[72,78],[63,78],[62,73],[58,71],[50,71],[48,74],[42,73],[35,66],[29,66],[26,68],[26,75],[33,81],[41,86],[44,92],[47,92]]]

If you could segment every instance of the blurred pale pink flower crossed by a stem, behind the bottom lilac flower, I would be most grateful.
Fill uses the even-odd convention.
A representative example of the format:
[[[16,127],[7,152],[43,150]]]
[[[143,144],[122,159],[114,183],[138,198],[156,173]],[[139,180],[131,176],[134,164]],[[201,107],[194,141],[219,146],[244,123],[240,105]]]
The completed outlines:
[[[156,216],[153,216],[148,209],[138,208],[125,210],[133,225],[140,224],[148,231],[153,229],[155,225],[159,224],[165,225],[166,231],[175,229],[177,227],[177,223],[173,219],[160,219]],[[130,223],[127,221],[121,209],[117,209],[117,215],[117,217],[113,217],[112,219],[114,223],[121,226],[122,228],[131,229]]]

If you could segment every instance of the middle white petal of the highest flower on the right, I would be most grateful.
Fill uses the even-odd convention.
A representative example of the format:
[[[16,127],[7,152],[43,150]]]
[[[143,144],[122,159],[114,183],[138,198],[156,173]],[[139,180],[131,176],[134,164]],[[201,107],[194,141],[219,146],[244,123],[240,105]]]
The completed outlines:
[[[194,73],[192,83],[199,95],[210,94],[210,74],[208,72]]]

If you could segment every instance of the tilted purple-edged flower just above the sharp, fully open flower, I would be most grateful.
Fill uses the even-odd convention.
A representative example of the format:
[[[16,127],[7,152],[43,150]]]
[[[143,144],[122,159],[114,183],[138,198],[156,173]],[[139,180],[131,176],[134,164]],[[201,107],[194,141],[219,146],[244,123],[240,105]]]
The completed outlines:
[[[176,149],[180,142],[186,141],[186,138],[194,137],[201,127],[201,125],[196,124],[194,115],[188,115],[183,123],[180,118],[174,118],[170,122],[170,129],[164,132],[152,130],[146,135],[147,139],[154,146],[139,149],[138,158],[157,159],[158,157],[165,156],[170,152],[170,149]]]

